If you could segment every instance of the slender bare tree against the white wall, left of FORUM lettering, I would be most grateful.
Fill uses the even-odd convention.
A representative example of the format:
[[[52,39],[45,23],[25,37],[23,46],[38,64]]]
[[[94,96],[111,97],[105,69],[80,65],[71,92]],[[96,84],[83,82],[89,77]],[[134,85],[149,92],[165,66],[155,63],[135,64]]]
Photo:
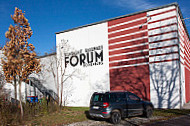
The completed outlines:
[[[67,41],[62,40],[62,43],[59,44],[56,49],[59,54],[48,57],[49,67],[47,69],[48,72],[50,72],[53,76],[59,105],[62,106],[64,101],[65,106],[65,102],[68,101],[68,96],[70,96],[69,92],[71,93],[71,90],[73,90],[73,88],[71,88],[71,85],[69,87],[64,87],[64,84],[67,83],[69,79],[72,79],[73,76],[77,76],[78,70],[70,69],[69,65],[65,64],[64,62],[65,53],[74,50],[67,44]],[[65,92],[64,88],[68,88],[69,92]]]

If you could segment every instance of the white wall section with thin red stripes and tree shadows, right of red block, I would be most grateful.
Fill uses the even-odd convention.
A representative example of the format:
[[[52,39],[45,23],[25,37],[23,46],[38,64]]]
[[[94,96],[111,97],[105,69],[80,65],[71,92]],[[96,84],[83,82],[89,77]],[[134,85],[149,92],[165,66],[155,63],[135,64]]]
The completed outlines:
[[[155,108],[180,108],[175,9],[171,6],[147,12],[151,17],[148,21],[150,96]]]

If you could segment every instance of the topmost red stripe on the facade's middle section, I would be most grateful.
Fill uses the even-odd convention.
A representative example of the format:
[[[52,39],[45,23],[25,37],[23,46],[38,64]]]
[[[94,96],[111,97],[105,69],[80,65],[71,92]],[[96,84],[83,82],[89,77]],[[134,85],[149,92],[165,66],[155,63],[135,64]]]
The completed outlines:
[[[128,16],[128,17],[115,19],[115,20],[109,21],[108,26],[120,24],[120,23],[123,23],[123,22],[126,22],[126,21],[135,20],[135,19],[145,17],[145,16],[146,16],[146,13],[141,13],[141,14],[136,14],[136,15],[132,15],[132,16]]]

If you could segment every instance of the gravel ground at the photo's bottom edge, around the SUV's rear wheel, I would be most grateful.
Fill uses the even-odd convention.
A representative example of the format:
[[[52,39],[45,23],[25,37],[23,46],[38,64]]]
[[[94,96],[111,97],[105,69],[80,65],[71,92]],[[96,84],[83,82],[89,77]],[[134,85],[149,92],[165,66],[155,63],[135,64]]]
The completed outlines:
[[[121,123],[116,126],[139,126],[139,125],[149,123],[150,121],[159,120],[159,119],[163,119],[163,117],[154,116],[149,119],[144,118],[144,117],[132,117],[132,118],[126,118],[125,120],[122,120]],[[113,126],[113,124],[111,124],[108,121],[103,121],[103,120],[88,120],[88,121],[76,122],[76,123],[72,123],[72,124],[64,125],[64,126]]]

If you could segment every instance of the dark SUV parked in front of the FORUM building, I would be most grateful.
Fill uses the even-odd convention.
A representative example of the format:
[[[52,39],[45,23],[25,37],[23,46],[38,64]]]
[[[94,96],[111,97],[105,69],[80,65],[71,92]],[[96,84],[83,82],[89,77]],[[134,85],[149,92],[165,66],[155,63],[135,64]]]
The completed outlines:
[[[136,115],[152,116],[154,106],[127,91],[93,93],[89,114],[92,118],[110,119],[114,124],[122,118]]]

